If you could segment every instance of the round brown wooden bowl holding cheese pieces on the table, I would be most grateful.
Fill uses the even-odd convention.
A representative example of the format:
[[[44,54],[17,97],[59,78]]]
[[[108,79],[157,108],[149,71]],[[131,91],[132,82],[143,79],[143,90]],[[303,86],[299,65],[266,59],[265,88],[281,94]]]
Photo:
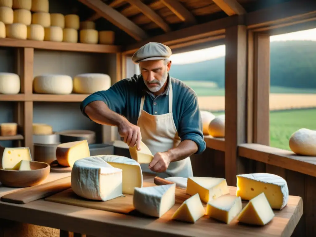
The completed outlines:
[[[48,176],[50,166],[44,162],[30,161],[32,170],[7,170],[0,167],[0,182],[8,187],[24,188],[39,184]]]

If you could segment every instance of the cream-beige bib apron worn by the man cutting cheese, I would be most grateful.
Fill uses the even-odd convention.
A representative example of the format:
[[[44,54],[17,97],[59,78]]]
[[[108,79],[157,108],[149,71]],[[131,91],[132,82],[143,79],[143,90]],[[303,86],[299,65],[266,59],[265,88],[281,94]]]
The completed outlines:
[[[171,83],[171,82],[170,82]],[[164,152],[178,146],[181,142],[172,116],[172,85],[169,90],[169,113],[161,115],[151,115],[143,110],[145,95],[143,95],[137,126],[140,127],[142,141],[155,155],[157,152]],[[190,157],[181,161],[170,162],[167,170],[163,173],[155,173],[148,168],[149,164],[141,164],[142,171],[154,173],[161,178],[166,177],[190,177],[193,176]]]

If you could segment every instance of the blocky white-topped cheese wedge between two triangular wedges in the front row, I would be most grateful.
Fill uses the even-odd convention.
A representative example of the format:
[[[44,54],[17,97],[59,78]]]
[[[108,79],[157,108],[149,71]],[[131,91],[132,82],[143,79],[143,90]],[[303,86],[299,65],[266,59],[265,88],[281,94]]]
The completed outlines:
[[[241,210],[241,198],[227,194],[210,201],[206,206],[206,215],[229,224]]]

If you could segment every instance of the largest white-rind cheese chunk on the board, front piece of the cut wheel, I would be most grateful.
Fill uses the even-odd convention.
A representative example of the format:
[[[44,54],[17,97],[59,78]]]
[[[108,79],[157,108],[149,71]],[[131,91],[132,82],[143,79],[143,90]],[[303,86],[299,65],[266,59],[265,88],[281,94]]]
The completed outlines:
[[[71,188],[80,197],[107,201],[123,195],[122,170],[100,157],[75,161],[71,170]]]

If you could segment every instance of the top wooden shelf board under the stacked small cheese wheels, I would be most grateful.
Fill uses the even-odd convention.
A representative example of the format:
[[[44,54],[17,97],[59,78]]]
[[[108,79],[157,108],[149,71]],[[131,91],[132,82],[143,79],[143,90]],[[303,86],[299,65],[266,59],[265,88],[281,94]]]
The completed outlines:
[[[18,40],[18,39],[10,39],[10,38],[1,38],[0,46],[59,50],[59,51],[90,52],[90,53],[121,52],[121,47],[115,46],[115,45],[99,45],[99,44],[95,45],[95,44],[82,44],[82,43],[52,42],[52,41]]]

